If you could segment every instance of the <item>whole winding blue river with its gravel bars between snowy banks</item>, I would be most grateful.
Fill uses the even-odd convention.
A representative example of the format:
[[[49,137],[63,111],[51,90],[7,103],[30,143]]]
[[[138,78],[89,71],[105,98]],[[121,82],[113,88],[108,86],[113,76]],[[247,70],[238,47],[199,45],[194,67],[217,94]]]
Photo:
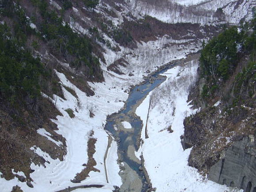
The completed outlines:
[[[122,170],[119,174],[123,182],[120,187],[121,192],[145,192],[151,188],[143,163],[134,154],[139,149],[142,129],[142,121],[135,114],[135,111],[147,94],[166,80],[159,74],[166,72],[175,64],[166,65],[158,72],[150,75],[143,83],[133,87],[124,107],[118,113],[113,113],[107,118],[105,129],[111,132],[118,143],[118,161]],[[123,121],[129,122],[132,128],[124,128]]]

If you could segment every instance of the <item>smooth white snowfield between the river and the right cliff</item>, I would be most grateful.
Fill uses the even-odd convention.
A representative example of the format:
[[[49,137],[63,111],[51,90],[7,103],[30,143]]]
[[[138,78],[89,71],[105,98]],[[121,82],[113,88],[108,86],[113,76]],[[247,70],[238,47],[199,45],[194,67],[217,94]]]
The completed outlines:
[[[197,61],[185,67],[174,67],[165,74],[167,79],[145,98],[136,109],[143,120],[141,146],[136,156],[143,154],[144,165],[157,192],[224,192],[233,190],[203,178],[197,169],[188,166],[191,149],[183,150],[181,135],[183,120],[196,113],[187,102],[190,87],[196,81]],[[147,113],[149,104],[149,117]],[[147,134],[145,138],[145,125]],[[172,133],[167,131],[171,126]]]

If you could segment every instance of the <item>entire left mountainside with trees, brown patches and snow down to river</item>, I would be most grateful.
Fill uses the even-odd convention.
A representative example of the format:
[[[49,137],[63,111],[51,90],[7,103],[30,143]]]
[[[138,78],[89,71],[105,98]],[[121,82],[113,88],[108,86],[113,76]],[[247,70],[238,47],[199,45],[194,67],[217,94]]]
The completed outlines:
[[[103,129],[106,117],[123,107],[131,85],[197,52],[219,32],[218,24],[248,20],[253,3],[2,0],[4,191],[120,186],[117,143]],[[108,151],[113,156],[105,158]]]

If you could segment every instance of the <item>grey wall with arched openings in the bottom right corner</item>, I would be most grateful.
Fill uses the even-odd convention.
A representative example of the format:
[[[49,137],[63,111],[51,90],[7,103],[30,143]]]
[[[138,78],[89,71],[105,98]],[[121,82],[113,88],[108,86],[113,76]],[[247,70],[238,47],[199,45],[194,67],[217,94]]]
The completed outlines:
[[[228,147],[225,157],[211,167],[208,178],[219,184],[242,188],[245,192],[256,190],[256,141],[246,136]]]

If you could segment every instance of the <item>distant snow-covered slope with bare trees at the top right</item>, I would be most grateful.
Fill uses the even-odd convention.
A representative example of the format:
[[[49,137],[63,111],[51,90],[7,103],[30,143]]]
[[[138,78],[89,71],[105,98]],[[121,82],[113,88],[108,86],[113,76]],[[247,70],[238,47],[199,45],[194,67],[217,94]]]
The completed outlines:
[[[218,21],[214,12],[223,8],[226,21],[239,23],[252,16],[254,0],[126,0],[141,15],[150,15],[166,23],[200,23],[202,25]]]

